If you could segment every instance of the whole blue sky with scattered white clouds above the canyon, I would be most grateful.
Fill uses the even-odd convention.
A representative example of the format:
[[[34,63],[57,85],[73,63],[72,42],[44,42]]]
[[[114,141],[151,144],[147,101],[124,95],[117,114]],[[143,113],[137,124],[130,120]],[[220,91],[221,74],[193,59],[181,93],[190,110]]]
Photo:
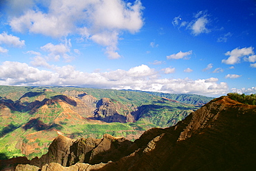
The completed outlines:
[[[256,93],[256,1],[2,0],[0,85]]]

